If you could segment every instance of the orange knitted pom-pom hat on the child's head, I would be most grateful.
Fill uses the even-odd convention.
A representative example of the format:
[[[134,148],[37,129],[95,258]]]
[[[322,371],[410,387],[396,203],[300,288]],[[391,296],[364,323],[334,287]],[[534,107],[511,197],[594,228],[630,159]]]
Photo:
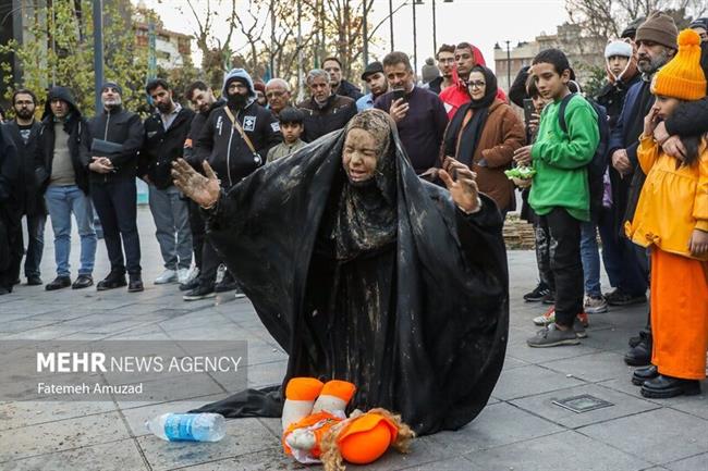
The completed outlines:
[[[680,100],[706,96],[706,75],[700,67],[700,36],[693,29],[679,35],[679,52],[654,77],[651,92]]]

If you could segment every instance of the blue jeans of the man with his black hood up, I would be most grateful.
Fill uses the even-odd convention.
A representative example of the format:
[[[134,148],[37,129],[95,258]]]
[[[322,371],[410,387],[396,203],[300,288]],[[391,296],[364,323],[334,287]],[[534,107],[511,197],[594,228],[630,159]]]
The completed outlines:
[[[57,275],[69,276],[69,255],[71,253],[71,214],[76,218],[81,237],[80,275],[94,272],[96,258],[96,232],[94,231],[94,208],[90,199],[76,185],[50,186],[45,193],[47,210],[54,232],[54,259]]]

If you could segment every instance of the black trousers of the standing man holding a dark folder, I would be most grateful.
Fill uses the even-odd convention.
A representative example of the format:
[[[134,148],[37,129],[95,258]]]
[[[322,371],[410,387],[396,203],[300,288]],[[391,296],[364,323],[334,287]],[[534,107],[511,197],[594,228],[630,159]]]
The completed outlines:
[[[103,240],[111,272],[141,274],[141,239],[137,234],[137,189],[135,178],[91,182],[94,208],[103,226]],[[122,247],[121,247],[122,238]],[[123,258],[125,250],[125,258]]]

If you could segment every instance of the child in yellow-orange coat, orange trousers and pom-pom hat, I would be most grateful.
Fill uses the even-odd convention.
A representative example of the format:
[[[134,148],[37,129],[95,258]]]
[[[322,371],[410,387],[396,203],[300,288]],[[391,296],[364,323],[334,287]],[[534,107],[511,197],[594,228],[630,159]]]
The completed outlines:
[[[679,52],[655,76],[655,104],[645,119],[637,158],[647,175],[626,234],[651,249],[652,365],[636,370],[642,395],[668,398],[700,393],[708,349],[708,141],[685,139],[686,156],[666,154],[652,138],[681,101],[706,96],[700,38],[679,35]]]

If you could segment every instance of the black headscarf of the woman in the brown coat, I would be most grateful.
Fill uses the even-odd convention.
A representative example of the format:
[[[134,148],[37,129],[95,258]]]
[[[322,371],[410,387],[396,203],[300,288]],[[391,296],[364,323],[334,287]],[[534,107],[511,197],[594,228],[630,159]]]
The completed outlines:
[[[477,149],[479,136],[481,136],[481,131],[485,128],[489,115],[489,107],[497,98],[497,77],[495,73],[484,65],[475,65],[469,73],[472,74],[472,72],[481,72],[485,76],[485,96],[479,100],[472,100],[460,107],[455,115],[452,116],[444,138],[445,156],[455,156],[455,159],[469,166],[472,166],[472,159]],[[469,110],[473,110],[472,120],[462,128],[465,115]],[[457,136],[461,128],[462,136],[460,138],[460,149],[457,149]]]

